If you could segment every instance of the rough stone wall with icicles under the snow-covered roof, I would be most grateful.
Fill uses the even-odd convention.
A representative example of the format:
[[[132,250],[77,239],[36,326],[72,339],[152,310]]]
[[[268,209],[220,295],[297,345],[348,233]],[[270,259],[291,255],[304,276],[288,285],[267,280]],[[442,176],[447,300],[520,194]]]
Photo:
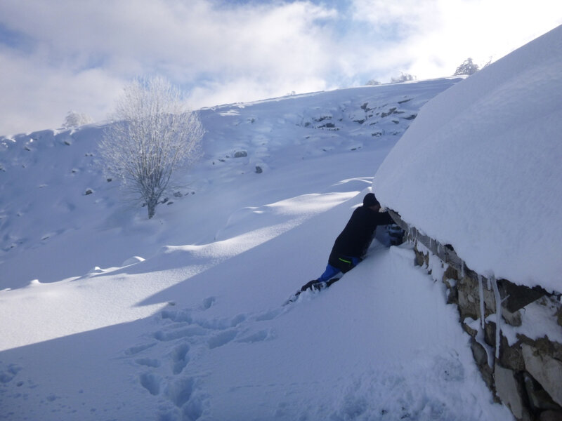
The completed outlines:
[[[466,267],[452,246],[420,234],[392,211],[391,215],[414,244],[417,265],[445,283],[447,301],[457,305],[476,365],[495,399],[517,420],[562,421],[561,295],[507,279],[486,279]],[[525,314],[535,321],[526,325],[545,326],[525,328]],[[556,338],[537,338],[543,330],[551,335],[554,331]]]

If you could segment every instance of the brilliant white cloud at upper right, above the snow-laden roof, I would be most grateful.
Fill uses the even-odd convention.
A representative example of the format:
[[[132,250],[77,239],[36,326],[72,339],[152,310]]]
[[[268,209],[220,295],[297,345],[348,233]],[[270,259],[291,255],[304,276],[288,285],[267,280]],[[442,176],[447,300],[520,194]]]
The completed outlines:
[[[389,62],[419,79],[452,74],[466,58],[480,65],[562,24],[562,2],[535,0],[355,0],[355,20],[375,34],[396,32]],[[397,56],[398,55],[398,56]],[[400,60],[400,56],[402,60]]]

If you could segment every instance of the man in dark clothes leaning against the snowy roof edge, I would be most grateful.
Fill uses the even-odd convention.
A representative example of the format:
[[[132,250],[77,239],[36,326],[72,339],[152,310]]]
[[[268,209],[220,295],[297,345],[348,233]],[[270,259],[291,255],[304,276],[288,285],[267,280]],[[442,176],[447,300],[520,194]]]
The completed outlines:
[[[307,289],[318,290],[332,285],[339,280],[334,276],[340,272],[345,274],[358,265],[365,257],[377,227],[394,223],[391,215],[379,212],[380,209],[381,204],[374,194],[367,193],[363,198],[363,206],[353,211],[346,227],[336,238],[325,272],[320,278],[303,285],[297,296]]]

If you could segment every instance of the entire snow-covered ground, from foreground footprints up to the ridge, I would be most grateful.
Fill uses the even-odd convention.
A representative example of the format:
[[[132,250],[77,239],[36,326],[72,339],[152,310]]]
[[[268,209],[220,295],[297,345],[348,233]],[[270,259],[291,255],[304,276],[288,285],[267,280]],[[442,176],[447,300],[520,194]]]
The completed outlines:
[[[201,110],[204,159],[152,220],[95,165],[103,126],[1,138],[0,419],[511,420],[384,231],[282,306],[457,81]]]

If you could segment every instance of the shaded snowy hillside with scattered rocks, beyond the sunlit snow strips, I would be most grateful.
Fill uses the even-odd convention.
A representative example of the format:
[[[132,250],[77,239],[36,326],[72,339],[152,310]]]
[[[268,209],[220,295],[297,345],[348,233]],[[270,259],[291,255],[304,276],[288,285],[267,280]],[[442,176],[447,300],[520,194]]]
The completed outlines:
[[[354,160],[369,159],[362,152],[386,154],[421,105],[458,80],[203,109],[204,158],[183,180],[185,187],[157,208],[154,221],[146,221],[138,203],[123,204],[117,182],[107,182],[96,166],[103,126],[0,138],[0,288],[80,276],[93,266],[121,265],[131,255],[150,255],[166,244],[214,241],[240,208],[320,192],[343,179],[336,168],[329,171],[334,163],[318,159],[342,160],[344,167],[347,162],[344,177],[355,177]],[[236,158],[237,152],[246,156]],[[271,180],[279,172],[289,172],[290,185]],[[321,187],[316,179],[323,175],[316,173],[326,173]],[[207,205],[211,214],[202,212]],[[178,229],[184,224],[190,228]]]

